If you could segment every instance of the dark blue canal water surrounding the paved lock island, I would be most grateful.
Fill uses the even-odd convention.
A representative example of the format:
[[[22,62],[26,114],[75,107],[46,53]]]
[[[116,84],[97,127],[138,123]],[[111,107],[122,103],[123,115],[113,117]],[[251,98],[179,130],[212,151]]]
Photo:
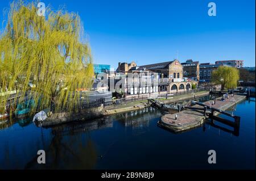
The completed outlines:
[[[255,169],[255,98],[228,111],[241,116],[236,134],[210,123],[175,134],[157,126],[163,113],[152,107],[54,128],[7,121],[0,169]],[[38,150],[46,151],[45,164]],[[216,164],[208,163],[209,150]]]

